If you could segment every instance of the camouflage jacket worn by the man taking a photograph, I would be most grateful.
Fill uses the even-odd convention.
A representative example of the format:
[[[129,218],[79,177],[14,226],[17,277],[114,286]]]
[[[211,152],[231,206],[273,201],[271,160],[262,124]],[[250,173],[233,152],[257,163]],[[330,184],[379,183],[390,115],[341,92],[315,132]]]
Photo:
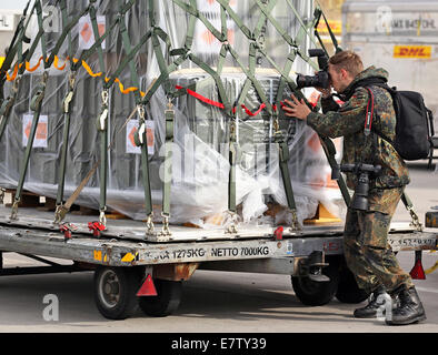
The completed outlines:
[[[322,100],[322,112],[311,112],[307,116],[307,124],[320,135],[329,138],[344,136],[342,164],[355,164],[362,161],[367,164],[381,165],[381,173],[370,181],[370,189],[401,187],[409,183],[409,173],[405,161],[398,155],[394,146],[371,133],[366,140],[364,134],[365,118],[369,101],[367,89],[360,87],[359,81],[378,78],[382,82],[388,79],[384,69],[370,67],[358,74],[344,91],[348,93],[348,101],[339,106],[332,98]],[[375,114],[372,131],[395,138],[396,113],[390,93],[379,87],[367,85],[375,97]],[[356,89],[355,89],[356,88]],[[347,173],[347,185],[355,190],[357,176]]]

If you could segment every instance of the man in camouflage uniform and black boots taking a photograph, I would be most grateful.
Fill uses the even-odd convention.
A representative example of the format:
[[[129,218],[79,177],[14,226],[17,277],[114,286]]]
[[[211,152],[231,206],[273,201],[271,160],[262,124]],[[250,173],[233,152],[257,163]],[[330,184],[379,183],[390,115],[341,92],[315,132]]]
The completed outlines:
[[[318,61],[321,68],[323,60]],[[426,320],[411,277],[401,270],[387,241],[391,217],[409,183],[405,161],[375,133],[395,136],[391,95],[377,85],[387,82],[388,72],[375,67],[364,70],[361,59],[351,51],[341,51],[326,63],[315,77],[298,75],[297,80],[299,88],[316,87],[322,93],[323,113],[312,112],[293,95],[292,101],[285,100],[283,111],[287,116],[306,121],[320,135],[344,136],[341,171],[347,174],[348,187],[355,190],[346,216],[344,252],[359,287],[372,294],[367,306],[355,311],[355,317],[376,317],[385,305],[384,295],[389,293],[399,304],[387,324]],[[342,105],[334,100],[331,88],[345,102]],[[367,132],[370,116],[372,130]]]

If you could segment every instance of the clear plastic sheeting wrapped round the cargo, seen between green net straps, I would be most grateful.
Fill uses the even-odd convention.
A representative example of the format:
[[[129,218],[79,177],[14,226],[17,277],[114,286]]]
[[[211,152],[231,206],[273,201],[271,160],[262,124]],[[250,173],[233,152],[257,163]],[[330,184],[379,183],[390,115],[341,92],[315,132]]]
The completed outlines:
[[[198,8],[217,23],[220,31],[220,8],[218,3],[198,0]],[[278,1],[272,16],[293,36],[299,31],[300,23],[288,3],[293,3],[302,18],[312,16],[309,1]],[[104,31],[118,16],[118,1],[98,1],[98,21]],[[69,18],[78,14],[88,1],[68,1]],[[181,48],[186,41],[186,30],[189,17],[175,2],[155,1],[156,26],[169,36],[171,48]],[[211,8],[210,8],[211,6]],[[261,14],[255,1],[230,1],[231,8],[241,17],[248,28],[253,28]],[[215,22],[219,19],[219,22]],[[229,31],[235,31],[233,42],[230,43],[242,59],[248,58],[249,40],[230,18]],[[148,19],[148,1],[138,0],[125,21],[131,45],[136,45],[141,36],[150,28]],[[199,21],[198,21],[199,22]],[[228,22],[227,22],[228,23]],[[74,55],[87,49],[90,39],[89,22],[83,19],[72,30],[72,47]],[[28,36],[34,38],[38,29],[32,27]],[[220,45],[208,36],[202,23],[195,31],[193,53],[199,55],[208,65],[215,68],[218,61]],[[206,34],[207,33],[207,34]],[[47,34],[48,51],[54,47],[59,32]],[[91,33],[92,36],[92,33]],[[276,29],[267,22],[266,50],[271,54],[279,68],[286,63],[290,51],[289,45],[281,42]],[[210,49],[207,47],[210,45]],[[87,44],[89,45],[89,44]],[[206,47],[207,45],[207,47]],[[310,45],[307,39],[300,44],[306,52]],[[165,43],[162,49],[166,51]],[[67,57],[67,41],[58,55]],[[37,50],[31,59],[36,63],[41,55]],[[126,58],[121,34],[116,30],[104,41],[104,71],[109,77],[117,70]],[[150,42],[132,59],[141,82],[141,90],[147,91],[152,81],[160,75],[159,65]],[[171,62],[170,58],[167,58]],[[93,72],[100,71],[97,53],[87,60]],[[245,61],[245,65],[248,62]],[[297,58],[293,72],[311,73],[313,69]],[[292,75],[293,75],[292,72]],[[41,80],[42,65],[33,73],[26,72],[21,78],[19,94],[12,109],[6,134],[0,141],[0,185],[14,189],[20,175],[31,118],[30,100],[36,85]],[[64,70],[51,68],[43,101],[40,123],[30,156],[24,189],[37,194],[57,196],[59,179],[59,160],[61,155],[63,113],[62,102],[68,92],[69,64]],[[256,78],[260,82],[270,102],[275,102],[279,84],[279,73],[271,63],[260,57]],[[125,88],[135,85],[131,82],[130,70],[127,67],[119,75]],[[220,77],[226,88],[227,97],[237,102],[247,77],[229,55]],[[213,79],[197,68],[191,61],[185,61],[176,72],[170,73],[170,85],[190,88],[198,94],[213,101],[220,101]],[[82,68],[78,71],[77,87],[71,110],[71,129],[69,136],[66,199],[72,194],[88,172],[100,159],[100,138],[96,129],[96,119],[100,114],[101,78],[91,78]],[[6,93],[11,83],[7,84]],[[138,129],[138,118],[127,121],[136,109],[132,93],[122,94],[118,83],[110,89],[109,95],[109,174],[107,205],[135,220],[145,220],[145,194],[141,171],[140,150],[135,145],[133,134]],[[310,93],[310,92],[309,92]],[[290,95],[285,91],[283,98]],[[149,145],[149,171],[155,217],[161,221],[162,178],[165,161],[166,119],[165,110],[168,98],[162,88],[158,89],[147,105],[147,126]],[[245,105],[255,112],[262,103],[253,88],[245,100]],[[180,95],[173,100],[176,119],[172,143],[172,182],[170,200],[170,223],[190,223],[211,229],[228,223],[228,183],[230,163],[228,120],[223,110],[206,104],[191,95]],[[281,111],[281,110],[280,110]],[[341,215],[344,202],[339,190],[330,186],[328,175],[330,168],[319,145],[315,132],[299,120],[286,119],[280,113],[280,129],[285,132],[290,151],[289,171],[297,204],[298,221],[312,217],[319,203],[322,203],[332,214]],[[238,161],[236,170],[237,192],[236,202],[242,223],[276,223],[290,224],[290,212],[279,169],[278,144],[272,140],[272,118],[262,110],[255,116],[238,119]],[[332,183],[332,182],[331,182]],[[82,190],[77,204],[91,209],[99,207],[99,169]]]

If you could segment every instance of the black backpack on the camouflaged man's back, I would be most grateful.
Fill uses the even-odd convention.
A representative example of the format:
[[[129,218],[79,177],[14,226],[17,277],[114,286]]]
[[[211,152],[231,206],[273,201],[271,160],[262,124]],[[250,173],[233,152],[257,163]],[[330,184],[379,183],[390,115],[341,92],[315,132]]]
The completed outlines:
[[[397,116],[394,141],[380,132],[375,132],[391,143],[404,160],[429,159],[430,166],[434,158],[434,115],[426,108],[422,95],[415,91],[398,91],[387,84],[375,85],[389,91]]]

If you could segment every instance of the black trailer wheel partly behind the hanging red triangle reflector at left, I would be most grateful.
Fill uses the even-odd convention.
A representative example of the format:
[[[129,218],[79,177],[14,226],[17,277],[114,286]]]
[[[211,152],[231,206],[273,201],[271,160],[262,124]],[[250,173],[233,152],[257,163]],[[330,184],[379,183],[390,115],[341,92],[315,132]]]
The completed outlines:
[[[149,316],[166,317],[179,307],[182,282],[156,278],[153,284],[157,288],[157,296],[138,297],[138,304]]]

